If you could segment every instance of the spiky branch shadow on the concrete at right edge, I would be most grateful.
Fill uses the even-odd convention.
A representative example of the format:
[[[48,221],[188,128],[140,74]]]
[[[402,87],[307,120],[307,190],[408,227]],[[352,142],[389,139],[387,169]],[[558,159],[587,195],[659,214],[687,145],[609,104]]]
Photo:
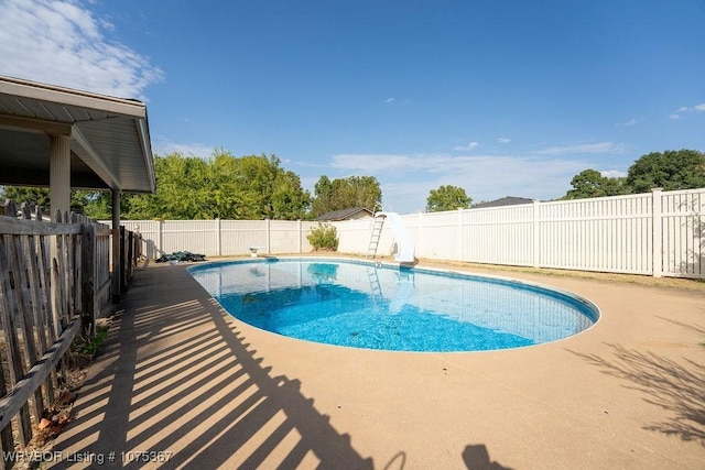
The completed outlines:
[[[620,345],[607,346],[614,350],[612,359],[568,351],[599,367],[603,373],[627,381],[629,385],[625,386],[642,392],[647,403],[669,413],[668,420],[644,425],[644,429],[705,446],[705,365],[685,358],[676,362]]]

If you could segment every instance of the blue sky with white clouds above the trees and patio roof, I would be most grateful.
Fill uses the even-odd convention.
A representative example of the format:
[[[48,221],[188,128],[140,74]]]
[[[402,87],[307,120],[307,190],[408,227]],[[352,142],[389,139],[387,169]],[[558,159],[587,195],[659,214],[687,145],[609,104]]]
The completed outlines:
[[[0,0],[0,75],[145,101],[160,155],[371,175],[411,214],[705,151],[704,23],[703,0]]]

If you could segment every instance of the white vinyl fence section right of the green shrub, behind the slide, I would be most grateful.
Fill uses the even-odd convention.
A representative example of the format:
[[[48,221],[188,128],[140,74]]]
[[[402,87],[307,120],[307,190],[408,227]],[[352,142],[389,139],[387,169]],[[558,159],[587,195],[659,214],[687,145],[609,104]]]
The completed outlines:
[[[705,278],[705,188],[402,216],[416,258]],[[366,253],[369,221],[337,222]],[[378,253],[388,254],[384,229]]]

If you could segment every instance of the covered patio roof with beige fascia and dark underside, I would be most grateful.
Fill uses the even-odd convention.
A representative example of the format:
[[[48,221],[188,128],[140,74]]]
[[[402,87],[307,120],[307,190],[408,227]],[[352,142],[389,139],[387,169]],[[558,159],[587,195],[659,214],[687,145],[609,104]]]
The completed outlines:
[[[51,135],[70,138],[70,185],[153,193],[144,103],[0,76],[0,185],[48,186]]]

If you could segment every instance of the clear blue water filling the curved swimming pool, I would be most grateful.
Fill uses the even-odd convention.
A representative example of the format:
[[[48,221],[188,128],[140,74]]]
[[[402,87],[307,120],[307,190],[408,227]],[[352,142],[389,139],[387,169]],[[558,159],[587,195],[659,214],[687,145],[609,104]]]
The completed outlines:
[[[355,348],[519,348],[576,335],[598,318],[583,298],[519,281],[360,261],[258,259],[191,273],[249,325]]]

